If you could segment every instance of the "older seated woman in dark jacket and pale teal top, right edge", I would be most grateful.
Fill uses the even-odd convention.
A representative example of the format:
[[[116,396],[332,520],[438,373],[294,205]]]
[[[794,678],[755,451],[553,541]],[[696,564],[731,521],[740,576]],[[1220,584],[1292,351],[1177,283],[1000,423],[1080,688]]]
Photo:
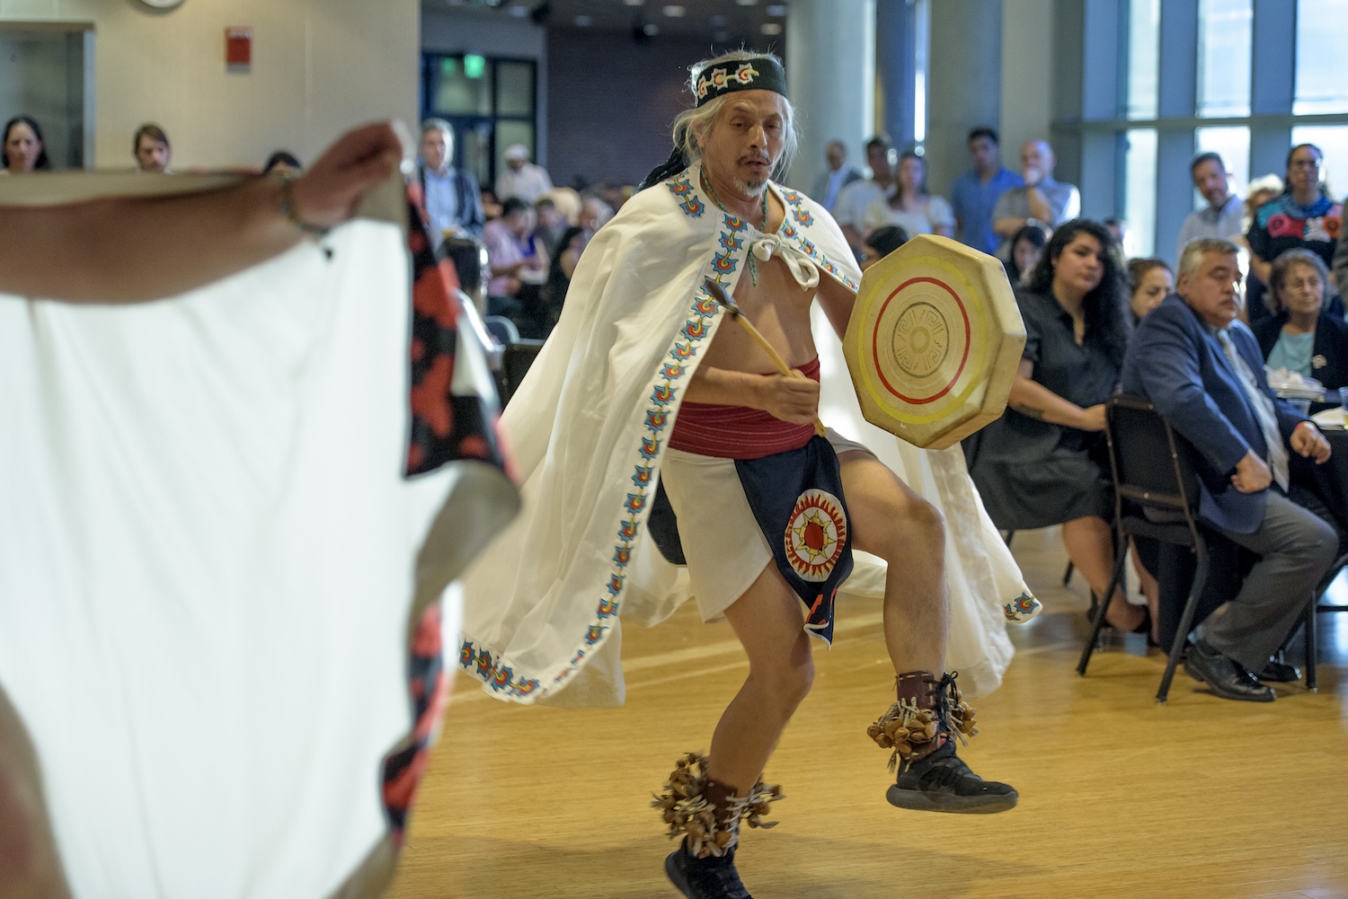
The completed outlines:
[[[1268,271],[1266,305],[1273,313],[1251,329],[1268,368],[1314,377],[1335,391],[1348,387],[1348,325],[1325,313],[1329,271],[1309,249],[1289,249]]]

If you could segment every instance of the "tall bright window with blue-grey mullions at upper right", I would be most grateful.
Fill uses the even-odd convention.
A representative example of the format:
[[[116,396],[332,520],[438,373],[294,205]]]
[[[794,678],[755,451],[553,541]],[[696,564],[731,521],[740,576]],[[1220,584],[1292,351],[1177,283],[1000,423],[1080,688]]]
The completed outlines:
[[[1054,8],[1081,23],[1055,42],[1060,177],[1080,183],[1082,214],[1128,220],[1134,252],[1174,261],[1184,218],[1206,204],[1189,174],[1198,152],[1220,154],[1244,195],[1314,143],[1329,190],[1348,194],[1348,0]]]

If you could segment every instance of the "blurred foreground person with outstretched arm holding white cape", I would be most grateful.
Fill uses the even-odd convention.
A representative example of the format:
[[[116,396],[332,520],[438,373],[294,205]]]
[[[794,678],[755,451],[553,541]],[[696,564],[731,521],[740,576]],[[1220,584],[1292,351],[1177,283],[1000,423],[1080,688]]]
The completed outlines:
[[[441,594],[515,508],[425,233],[352,221],[400,159],[380,124],[299,177],[0,186],[4,899],[388,884]]]

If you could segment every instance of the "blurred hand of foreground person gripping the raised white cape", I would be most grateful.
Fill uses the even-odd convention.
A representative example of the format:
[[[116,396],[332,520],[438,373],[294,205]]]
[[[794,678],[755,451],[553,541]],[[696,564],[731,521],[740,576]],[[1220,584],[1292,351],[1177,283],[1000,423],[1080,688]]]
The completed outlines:
[[[349,220],[367,190],[398,171],[403,146],[388,123],[348,131],[295,179],[295,213],[333,228]]]

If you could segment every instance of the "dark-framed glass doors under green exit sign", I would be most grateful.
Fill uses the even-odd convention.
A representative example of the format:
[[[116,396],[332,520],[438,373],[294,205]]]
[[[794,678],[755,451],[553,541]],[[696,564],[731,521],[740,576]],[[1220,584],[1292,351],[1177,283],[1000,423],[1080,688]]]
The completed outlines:
[[[506,148],[524,144],[537,158],[537,67],[532,59],[473,54],[422,57],[422,117],[454,127],[454,164],[484,187],[504,168]]]

